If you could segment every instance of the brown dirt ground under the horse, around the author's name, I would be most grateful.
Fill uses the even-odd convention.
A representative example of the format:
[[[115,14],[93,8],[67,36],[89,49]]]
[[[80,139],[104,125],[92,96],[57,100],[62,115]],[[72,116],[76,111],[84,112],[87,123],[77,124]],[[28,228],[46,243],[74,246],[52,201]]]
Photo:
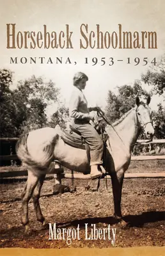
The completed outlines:
[[[0,247],[22,248],[67,248],[67,247],[129,247],[163,246],[164,243],[164,195],[165,179],[125,179],[123,182],[122,214],[125,223],[113,218],[113,194],[111,180],[93,180],[86,191],[88,181],[74,180],[76,191],[52,195],[54,180],[45,180],[40,205],[48,223],[58,228],[80,227],[80,240],[72,240],[69,246],[65,240],[49,240],[49,228],[42,230],[36,221],[33,202],[29,203],[31,232],[26,234],[20,223],[20,193],[25,182],[0,184]],[[63,184],[72,185],[63,180]],[[85,239],[85,223],[89,230],[92,224],[97,228],[116,228],[115,243],[112,240]],[[111,229],[112,230],[112,229]],[[89,231],[90,232],[90,231]],[[111,233],[112,234],[112,233]]]

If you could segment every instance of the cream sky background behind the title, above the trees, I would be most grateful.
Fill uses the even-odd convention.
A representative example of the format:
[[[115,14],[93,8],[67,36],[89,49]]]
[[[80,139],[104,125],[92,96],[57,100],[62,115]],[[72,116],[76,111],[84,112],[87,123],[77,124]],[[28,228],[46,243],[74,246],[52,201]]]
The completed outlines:
[[[96,104],[102,108],[106,105],[108,90],[115,90],[116,86],[133,83],[140,79],[141,73],[146,71],[148,65],[143,67],[127,65],[126,58],[154,57],[160,60],[165,52],[165,1],[164,0],[1,0],[1,58],[0,68],[10,68],[15,72],[13,88],[20,79],[43,76],[52,79],[61,88],[61,100],[68,106],[72,91],[72,77],[77,71],[85,72],[89,76],[88,85],[84,91],[89,106]],[[74,31],[72,42],[74,49],[6,49],[6,24],[16,23],[17,31],[40,31],[43,24],[48,31],[61,31],[65,24],[70,25]],[[102,31],[117,31],[118,24],[122,24],[123,31],[156,31],[158,49],[79,49],[79,28],[81,24],[88,24],[90,30],[100,24]],[[60,64],[10,64],[10,56],[45,56],[52,60],[54,57],[70,57],[77,61],[77,65]],[[114,57],[116,62],[112,67],[108,65],[85,65],[84,57]],[[152,107],[155,108],[158,97],[153,97]],[[54,108],[49,109],[49,113]]]

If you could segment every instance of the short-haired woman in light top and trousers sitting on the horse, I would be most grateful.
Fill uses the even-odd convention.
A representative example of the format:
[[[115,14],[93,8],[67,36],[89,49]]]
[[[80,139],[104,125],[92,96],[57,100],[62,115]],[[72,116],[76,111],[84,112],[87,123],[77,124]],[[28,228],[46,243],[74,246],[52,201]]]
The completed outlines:
[[[77,72],[74,76],[74,90],[70,99],[69,114],[72,120],[72,126],[79,131],[81,136],[90,146],[90,166],[91,179],[97,179],[102,176],[104,168],[102,166],[103,141],[98,132],[90,124],[94,117],[90,115],[91,111],[100,111],[100,108],[88,108],[86,97],[82,90],[86,86],[88,76],[82,72]]]

